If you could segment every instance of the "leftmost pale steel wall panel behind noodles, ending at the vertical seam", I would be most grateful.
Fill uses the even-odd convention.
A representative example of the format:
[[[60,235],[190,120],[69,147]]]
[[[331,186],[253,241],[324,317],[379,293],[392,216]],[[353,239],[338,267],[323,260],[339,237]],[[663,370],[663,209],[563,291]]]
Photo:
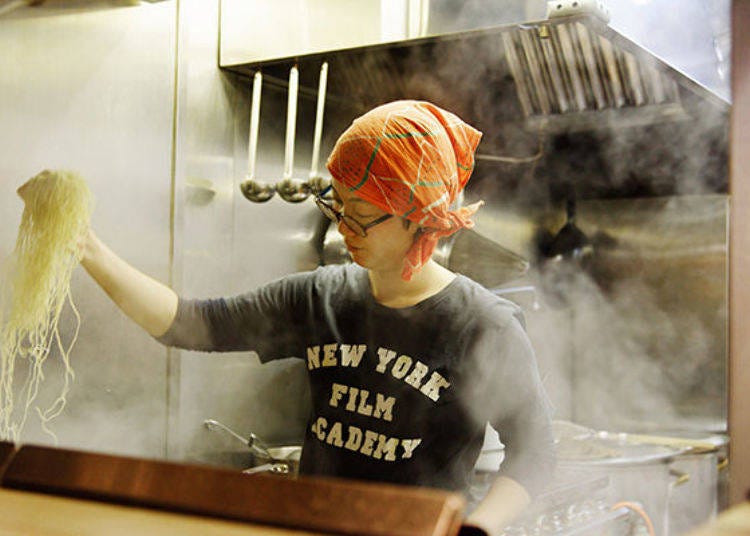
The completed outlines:
[[[96,196],[97,233],[166,280],[175,3],[87,6],[53,4],[0,17],[0,257],[10,254],[20,222],[15,189],[42,169],[70,168]],[[51,425],[60,445],[163,455],[166,351],[80,268],[73,297],[81,332],[68,405]],[[71,319],[66,311],[63,324]],[[39,397],[48,404],[61,378],[52,365]],[[52,442],[35,414],[23,438]]]

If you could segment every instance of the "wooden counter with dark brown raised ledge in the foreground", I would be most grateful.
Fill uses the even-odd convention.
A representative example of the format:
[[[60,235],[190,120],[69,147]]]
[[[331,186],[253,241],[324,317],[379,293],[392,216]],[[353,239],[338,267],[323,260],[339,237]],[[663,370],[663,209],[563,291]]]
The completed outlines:
[[[108,516],[122,518],[123,524],[155,527],[155,516],[168,515],[173,523],[183,516],[204,519],[207,527],[213,526],[210,518],[230,523],[217,527],[263,527],[266,532],[258,534],[274,534],[270,527],[276,527],[286,530],[279,534],[453,536],[463,517],[463,498],[437,489],[246,475],[205,465],[39,446],[5,449],[4,456],[0,534],[16,527],[18,532],[11,533],[23,533],[23,523],[43,524],[29,525],[29,534],[81,533],[80,527],[93,521],[109,523]],[[34,512],[42,512],[44,519],[29,517]],[[78,514],[87,521],[80,521]],[[104,528],[91,533],[97,531],[110,533]]]

